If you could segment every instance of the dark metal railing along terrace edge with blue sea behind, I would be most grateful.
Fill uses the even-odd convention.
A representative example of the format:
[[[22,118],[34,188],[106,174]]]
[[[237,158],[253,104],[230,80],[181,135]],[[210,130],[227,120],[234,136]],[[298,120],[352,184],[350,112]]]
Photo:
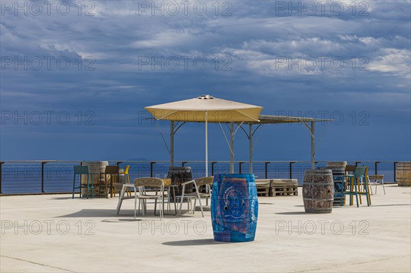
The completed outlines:
[[[52,194],[68,193],[73,189],[73,166],[83,161],[1,161],[0,193],[7,194]],[[329,161],[316,161],[316,167],[325,167]],[[395,170],[401,161],[348,161],[351,165],[369,166],[369,174],[384,174],[384,183],[395,183]],[[164,177],[170,167],[169,161],[109,161],[110,165],[125,168],[130,165],[129,177]],[[193,177],[203,177],[204,161],[175,161],[175,166],[190,166]],[[258,179],[297,179],[303,183],[304,172],[310,161],[253,161],[253,173]],[[210,161],[211,174],[228,173],[229,161]],[[248,161],[235,161],[234,172],[247,173]],[[78,179],[76,179],[78,184]]]

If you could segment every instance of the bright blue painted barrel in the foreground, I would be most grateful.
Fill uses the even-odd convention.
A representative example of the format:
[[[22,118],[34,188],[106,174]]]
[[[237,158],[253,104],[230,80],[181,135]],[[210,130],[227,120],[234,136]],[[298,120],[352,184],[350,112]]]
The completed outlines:
[[[211,197],[214,240],[253,241],[257,218],[258,198],[254,174],[214,175]]]

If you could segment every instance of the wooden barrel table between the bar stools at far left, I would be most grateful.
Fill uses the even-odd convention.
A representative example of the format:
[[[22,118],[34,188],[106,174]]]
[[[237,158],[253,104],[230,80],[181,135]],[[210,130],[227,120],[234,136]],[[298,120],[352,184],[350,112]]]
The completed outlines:
[[[108,161],[84,161],[83,166],[88,166],[88,171],[92,173],[92,180],[90,176],[90,186],[93,184],[94,186],[94,197],[104,197],[104,186],[100,187],[99,178],[100,173],[105,171],[105,166],[108,166]],[[104,177],[104,176],[103,176]],[[107,179],[110,180],[108,176]],[[102,182],[103,183],[103,182]],[[88,196],[91,197],[91,190],[88,193]],[[82,197],[87,197],[87,174],[82,174]]]

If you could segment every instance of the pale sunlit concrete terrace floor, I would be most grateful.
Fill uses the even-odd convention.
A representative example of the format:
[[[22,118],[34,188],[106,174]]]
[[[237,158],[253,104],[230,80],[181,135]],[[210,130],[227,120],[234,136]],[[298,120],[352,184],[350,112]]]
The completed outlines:
[[[1,272],[410,272],[411,188],[371,207],[304,213],[299,196],[261,197],[256,240],[218,243],[201,218],[120,216],[116,198],[1,196]],[[27,221],[27,222],[25,222]],[[20,226],[20,227],[17,227]],[[25,234],[27,233],[27,234]]]

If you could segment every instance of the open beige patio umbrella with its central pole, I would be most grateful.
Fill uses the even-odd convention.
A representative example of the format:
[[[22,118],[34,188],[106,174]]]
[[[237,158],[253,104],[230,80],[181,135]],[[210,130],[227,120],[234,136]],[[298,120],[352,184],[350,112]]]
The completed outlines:
[[[208,176],[208,122],[258,121],[262,107],[216,99],[210,95],[145,107],[157,120],[206,123],[206,176]]]

